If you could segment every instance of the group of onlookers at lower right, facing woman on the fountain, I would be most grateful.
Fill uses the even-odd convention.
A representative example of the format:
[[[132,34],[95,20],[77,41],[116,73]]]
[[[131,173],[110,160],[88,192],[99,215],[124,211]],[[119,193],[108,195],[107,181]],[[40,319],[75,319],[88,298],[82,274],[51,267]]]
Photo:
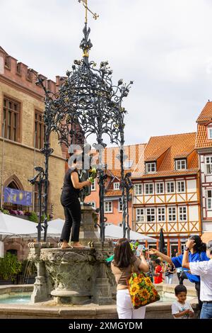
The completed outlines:
[[[131,250],[128,239],[119,239],[114,247],[112,273],[117,282],[117,312],[119,319],[143,319],[146,306],[134,309],[127,281],[134,272],[144,272],[155,285],[171,284],[177,273],[179,284],[175,286],[176,300],[172,304],[172,316],[175,319],[194,317],[194,310],[187,301],[187,288],[184,278],[194,283],[199,303],[200,319],[212,319],[212,240],[207,246],[198,235],[190,237],[184,247],[184,254],[170,257],[150,249],[148,259],[141,251],[139,257]],[[151,259],[151,256],[154,258]],[[164,277],[163,277],[164,276]]]

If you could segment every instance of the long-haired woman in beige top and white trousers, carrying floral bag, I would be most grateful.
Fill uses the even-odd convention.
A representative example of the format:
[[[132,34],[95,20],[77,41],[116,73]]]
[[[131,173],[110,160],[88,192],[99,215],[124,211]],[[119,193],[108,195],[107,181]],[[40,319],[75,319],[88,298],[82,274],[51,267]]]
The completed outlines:
[[[112,273],[117,282],[117,312],[119,319],[143,319],[146,307],[134,309],[129,295],[127,280],[131,276],[132,267],[135,273],[148,272],[149,266],[140,253],[140,258],[135,256],[131,250],[129,240],[121,238],[114,248],[114,260],[111,264]]]

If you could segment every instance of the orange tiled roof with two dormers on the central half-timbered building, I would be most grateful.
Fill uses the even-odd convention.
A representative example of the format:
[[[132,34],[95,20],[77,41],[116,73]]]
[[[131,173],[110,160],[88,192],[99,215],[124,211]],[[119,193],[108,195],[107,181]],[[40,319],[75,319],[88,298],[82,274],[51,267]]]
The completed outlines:
[[[159,149],[160,156],[157,158],[158,170],[155,174],[143,174],[140,178],[196,174],[198,171],[198,157],[194,150],[195,140],[196,132],[151,137],[146,145],[144,159],[148,161],[150,157],[155,156],[155,152]],[[187,170],[175,170],[175,158],[179,157],[187,157]]]

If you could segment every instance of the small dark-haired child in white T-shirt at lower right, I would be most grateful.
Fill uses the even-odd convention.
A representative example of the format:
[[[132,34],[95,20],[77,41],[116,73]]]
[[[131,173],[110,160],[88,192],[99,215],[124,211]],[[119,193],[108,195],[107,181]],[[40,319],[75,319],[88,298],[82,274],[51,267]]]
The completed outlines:
[[[183,285],[175,287],[175,296],[177,300],[172,304],[172,315],[175,319],[189,319],[194,317],[194,311],[191,305],[186,302],[187,288]]]

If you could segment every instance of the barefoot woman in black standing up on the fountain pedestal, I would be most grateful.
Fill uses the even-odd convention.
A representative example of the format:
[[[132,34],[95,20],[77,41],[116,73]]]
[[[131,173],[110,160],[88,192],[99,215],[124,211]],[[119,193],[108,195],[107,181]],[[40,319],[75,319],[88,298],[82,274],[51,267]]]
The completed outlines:
[[[75,160],[64,176],[61,204],[64,207],[65,223],[60,237],[61,249],[70,247],[68,244],[70,234],[73,247],[83,248],[83,245],[78,241],[81,225],[81,203],[78,196],[81,188],[90,186],[91,183],[90,181],[79,182],[77,166],[78,163]]]

